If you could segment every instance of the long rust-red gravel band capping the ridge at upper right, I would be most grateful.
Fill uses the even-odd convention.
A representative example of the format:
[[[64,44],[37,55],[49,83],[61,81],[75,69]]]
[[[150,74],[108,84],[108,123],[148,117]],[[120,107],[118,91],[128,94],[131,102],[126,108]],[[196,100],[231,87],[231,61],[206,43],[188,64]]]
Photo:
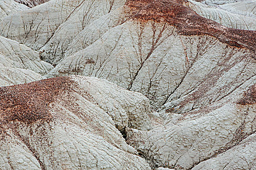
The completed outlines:
[[[256,31],[227,28],[219,23],[197,15],[185,6],[187,0],[127,0],[132,18],[145,22],[154,20],[177,27],[183,35],[207,34],[237,48],[247,48],[256,59]]]

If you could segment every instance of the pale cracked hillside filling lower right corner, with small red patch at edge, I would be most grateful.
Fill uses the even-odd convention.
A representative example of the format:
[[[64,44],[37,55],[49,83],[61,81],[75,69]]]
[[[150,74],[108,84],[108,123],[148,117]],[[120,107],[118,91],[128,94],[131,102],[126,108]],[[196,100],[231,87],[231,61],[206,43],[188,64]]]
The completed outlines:
[[[184,114],[171,109],[161,112],[163,126],[149,132],[130,129],[127,142],[150,160],[152,167],[254,169],[255,81],[246,82],[229,97],[207,107]]]

